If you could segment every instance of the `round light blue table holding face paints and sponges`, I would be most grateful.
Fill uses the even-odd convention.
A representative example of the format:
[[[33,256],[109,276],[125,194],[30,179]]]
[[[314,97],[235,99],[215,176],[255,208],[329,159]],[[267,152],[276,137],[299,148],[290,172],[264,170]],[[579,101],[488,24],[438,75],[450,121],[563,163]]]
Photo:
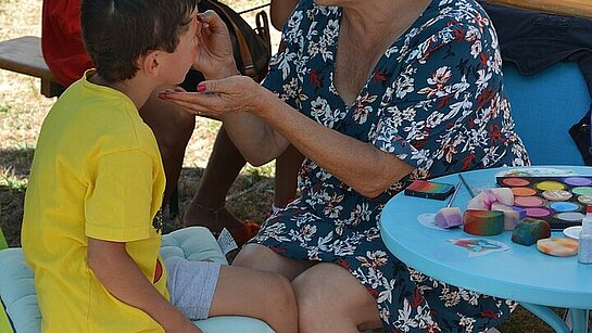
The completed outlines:
[[[553,166],[576,175],[592,176],[590,167]],[[463,172],[467,183],[479,192],[495,187],[495,175],[506,169]],[[457,175],[434,181],[456,184]],[[452,206],[465,210],[470,194],[465,187]],[[564,321],[547,307],[571,309],[574,332],[588,332],[588,313],[592,309],[592,265],[578,264],[576,256],[559,258],[540,253],[536,245],[512,242],[512,232],[495,236],[476,236],[461,228],[436,230],[419,223],[417,216],[436,214],[448,201],[395,195],[381,216],[381,233],[388,248],[406,265],[443,282],[475,292],[515,299],[549,323],[557,332],[569,332]],[[553,236],[564,236],[554,231]],[[451,239],[479,238],[499,241],[509,249],[469,257],[468,251],[446,242]]]

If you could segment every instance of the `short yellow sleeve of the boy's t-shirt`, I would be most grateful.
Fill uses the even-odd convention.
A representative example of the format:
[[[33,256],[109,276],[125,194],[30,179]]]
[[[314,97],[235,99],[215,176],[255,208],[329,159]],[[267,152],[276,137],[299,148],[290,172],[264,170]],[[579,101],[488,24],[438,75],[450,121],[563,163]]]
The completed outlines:
[[[85,200],[87,236],[113,242],[150,236],[153,168],[150,156],[139,150],[99,158]]]

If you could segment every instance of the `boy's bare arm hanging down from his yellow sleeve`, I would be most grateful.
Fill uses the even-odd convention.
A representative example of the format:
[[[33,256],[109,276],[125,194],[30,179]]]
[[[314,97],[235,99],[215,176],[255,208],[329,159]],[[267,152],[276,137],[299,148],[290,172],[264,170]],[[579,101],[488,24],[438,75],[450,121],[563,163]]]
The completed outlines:
[[[147,312],[167,333],[201,332],[148,281],[127,254],[125,243],[88,238],[87,256],[88,267],[113,296]]]

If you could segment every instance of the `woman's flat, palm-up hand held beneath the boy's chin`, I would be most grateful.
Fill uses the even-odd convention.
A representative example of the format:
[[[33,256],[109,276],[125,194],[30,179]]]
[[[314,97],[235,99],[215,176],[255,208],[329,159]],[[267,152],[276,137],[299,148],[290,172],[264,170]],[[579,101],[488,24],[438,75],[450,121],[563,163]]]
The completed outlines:
[[[277,99],[250,77],[238,75],[200,82],[198,92],[187,92],[182,88],[168,89],[160,92],[159,98],[171,101],[192,114],[216,119],[236,112],[261,115],[267,99]]]

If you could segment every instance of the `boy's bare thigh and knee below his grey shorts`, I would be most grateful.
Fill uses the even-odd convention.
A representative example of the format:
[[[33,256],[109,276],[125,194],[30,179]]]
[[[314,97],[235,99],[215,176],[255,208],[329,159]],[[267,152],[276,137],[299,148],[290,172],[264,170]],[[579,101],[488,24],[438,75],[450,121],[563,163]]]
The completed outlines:
[[[299,331],[292,284],[278,273],[223,266],[210,317],[223,315],[259,318],[278,333]]]

